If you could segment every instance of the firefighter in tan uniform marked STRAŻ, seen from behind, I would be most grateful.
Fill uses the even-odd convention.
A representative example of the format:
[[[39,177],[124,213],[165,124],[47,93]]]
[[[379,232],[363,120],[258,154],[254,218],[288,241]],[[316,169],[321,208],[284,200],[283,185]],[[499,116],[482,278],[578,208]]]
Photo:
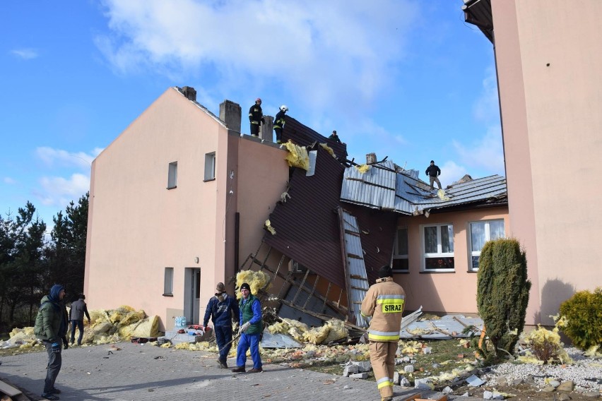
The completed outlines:
[[[379,279],[370,286],[362,301],[362,316],[371,317],[368,328],[370,364],[382,401],[393,400],[395,352],[399,342],[401,315],[406,292],[393,281],[391,266],[379,269]]]

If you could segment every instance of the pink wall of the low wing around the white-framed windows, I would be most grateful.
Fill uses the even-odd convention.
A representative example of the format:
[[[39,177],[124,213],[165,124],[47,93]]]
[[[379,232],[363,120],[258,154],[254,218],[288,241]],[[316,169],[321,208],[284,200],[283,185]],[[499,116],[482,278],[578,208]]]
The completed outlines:
[[[396,282],[406,290],[406,310],[437,313],[477,313],[475,272],[468,272],[468,226],[482,220],[504,220],[509,225],[505,206],[466,210],[451,213],[433,213],[429,217],[400,217],[398,227],[408,227],[409,273],[395,274]],[[454,227],[454,272],[420,273],[423,259],[422,225],[450,224]]]

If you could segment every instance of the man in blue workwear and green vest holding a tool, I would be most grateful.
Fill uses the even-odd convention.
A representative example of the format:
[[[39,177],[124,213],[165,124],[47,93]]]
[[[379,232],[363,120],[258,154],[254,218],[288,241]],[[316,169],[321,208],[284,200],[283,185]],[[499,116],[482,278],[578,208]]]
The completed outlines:
[[[244,364],[247,363],[247,350],[251,348],[251,359],[253,359],[253,369],[249,373],[259,373],[261,369],[261,357],[259,356],[259,340],[264,331],[264,325],[261,323],[261,303],[253,294],[251,286],[243,282],[240,286],[240,299],[238,306],[240,308],[240,340],[236,349],[236,368],[232,369],[234,373],[245,371]]]

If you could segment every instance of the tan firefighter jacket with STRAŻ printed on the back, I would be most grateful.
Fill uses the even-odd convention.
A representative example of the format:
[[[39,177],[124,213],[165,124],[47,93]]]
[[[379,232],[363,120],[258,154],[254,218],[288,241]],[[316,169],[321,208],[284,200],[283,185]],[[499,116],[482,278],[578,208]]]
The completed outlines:
[[[362,301],[362,316],[372,316],[368,339],[371,341],[398,341],[401,316],[406,306],[406,292],[393,277],[377,280],[370,286]]]

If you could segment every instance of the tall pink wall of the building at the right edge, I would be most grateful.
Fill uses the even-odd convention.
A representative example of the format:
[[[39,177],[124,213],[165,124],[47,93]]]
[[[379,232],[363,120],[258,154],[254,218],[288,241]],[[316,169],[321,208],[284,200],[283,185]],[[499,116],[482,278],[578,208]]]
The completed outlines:
[[[492,0],[510,234],[525,246],[527,323],[602,283],[602,2]]]

